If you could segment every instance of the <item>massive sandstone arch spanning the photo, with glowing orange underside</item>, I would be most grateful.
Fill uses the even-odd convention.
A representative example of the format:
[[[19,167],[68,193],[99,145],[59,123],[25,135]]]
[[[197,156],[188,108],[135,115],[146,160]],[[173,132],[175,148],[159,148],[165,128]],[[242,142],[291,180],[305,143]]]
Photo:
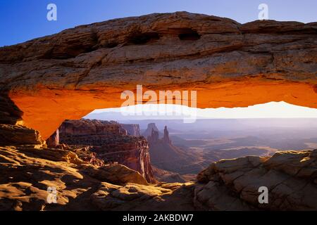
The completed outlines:
[[[0,90],[48,138],[66,119],[120,107],[122,91],[197,90],[198,108],[270,101],[317,108],[317,23],[187,12],[82,25],[0,48]]]

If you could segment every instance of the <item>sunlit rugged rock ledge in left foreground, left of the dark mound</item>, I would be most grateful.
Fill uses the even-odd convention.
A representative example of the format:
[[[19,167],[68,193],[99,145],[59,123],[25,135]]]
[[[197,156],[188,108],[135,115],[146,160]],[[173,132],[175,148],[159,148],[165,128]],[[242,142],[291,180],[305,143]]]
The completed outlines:
[[[128,167],[90,165],[69,150],[0,147],[0,170],[0,210],[194,209],[191,184],[150,185]]]

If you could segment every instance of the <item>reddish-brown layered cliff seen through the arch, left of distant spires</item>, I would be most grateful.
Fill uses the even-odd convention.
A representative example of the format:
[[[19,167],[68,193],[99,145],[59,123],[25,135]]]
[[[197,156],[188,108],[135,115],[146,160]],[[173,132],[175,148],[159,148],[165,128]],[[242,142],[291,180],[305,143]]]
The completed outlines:
[[[90,146],[105,162],[118,162],[135,169],[150,183],[155,182],[149,158],[149,145],[142,136],[129,136],[118,122],[66,120],[59,127],[60,142]]]

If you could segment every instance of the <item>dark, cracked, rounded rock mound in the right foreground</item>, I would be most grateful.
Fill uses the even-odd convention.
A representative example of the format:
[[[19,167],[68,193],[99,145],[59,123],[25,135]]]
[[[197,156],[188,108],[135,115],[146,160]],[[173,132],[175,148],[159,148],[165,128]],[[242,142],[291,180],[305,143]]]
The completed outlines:
[[[317,210],[316,165],[317,150],[220,160],[197,176],[194,203],[204,210]],[[268,204],[259,203],[261,186]]]

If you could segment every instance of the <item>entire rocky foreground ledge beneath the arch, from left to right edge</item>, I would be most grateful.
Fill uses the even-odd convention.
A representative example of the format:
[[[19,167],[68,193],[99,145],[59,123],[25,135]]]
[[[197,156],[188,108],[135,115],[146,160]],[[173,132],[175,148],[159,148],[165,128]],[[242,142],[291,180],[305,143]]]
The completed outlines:
[[[70,150],[0,147],[0,210],[317,210],[317,150],[213,163],[199,182],[148,184],[118,164],[91,165]],[[258,188],[267,186],[268,204]],[[48,204],[55,187],[57,203]]]

